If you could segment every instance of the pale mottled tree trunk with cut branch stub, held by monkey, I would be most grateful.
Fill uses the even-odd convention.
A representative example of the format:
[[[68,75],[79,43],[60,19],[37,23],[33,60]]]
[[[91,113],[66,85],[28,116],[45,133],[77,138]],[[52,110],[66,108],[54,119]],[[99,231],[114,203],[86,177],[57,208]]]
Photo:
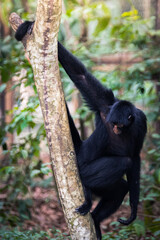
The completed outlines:
[[[83,217],[75,213],[75,208],[84,202],[84,195],[77,171],[59,75],[57,35],[60,16],[60,0],[39,0],[32,34],[27,34],[22,42],[33,68],[51,161],[71,238],[95,240],[96,235],[90,215]],[[12,13],[10,23],[16,30],[22,20],[17,14]]]

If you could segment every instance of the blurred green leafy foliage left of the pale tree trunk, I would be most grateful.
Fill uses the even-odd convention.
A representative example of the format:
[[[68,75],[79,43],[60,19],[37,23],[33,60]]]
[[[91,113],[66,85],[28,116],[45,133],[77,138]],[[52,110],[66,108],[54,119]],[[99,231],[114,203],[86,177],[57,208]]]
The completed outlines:
[[[42,179],[48,175],[50,168],[40,159],[40,142],[46,134],[43,123],[36,120],[36,111],[39,106],[38,96],[33,80],[33,72],[24,57],[22,44],[13,38],[0,39],[0,75],[2,84],[0,93],[6,91],[7,82],[16,74],[18,81],[12,85],[16,95],[16,107],[7,114],[12,114],[12,121],[0,128],[1,153],[4,160],[0,162],[0,193],[6,198],[0,203],[0,223],[15,226],[22,220],[29,219],[29,208],[32,205],[30,189],[35,186],[34,179]],[[22,69],[27,70],[27,75],[19,77]],[[22,74],[24,75],[24,74]],[[26,107],[22,107],[19,98],[19,87],[31,86],[35,95],[28,99]],[[8,133],[17,134],[19,140],[11,149],[7,147]],[[2,157],[1,156],[1,157]],[[45,180],[46,181],[46,180]],[[47,186],[47,183],[45,183]],[[12,209],[17,212],[13,213]]]

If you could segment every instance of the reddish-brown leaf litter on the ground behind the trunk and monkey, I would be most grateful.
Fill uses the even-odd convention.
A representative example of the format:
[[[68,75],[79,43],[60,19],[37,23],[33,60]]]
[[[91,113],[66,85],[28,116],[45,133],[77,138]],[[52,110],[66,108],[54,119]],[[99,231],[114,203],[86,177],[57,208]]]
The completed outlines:
[[[97,201],[94,201],[93,208],[96,204]],[[33,205],[30,208],[30,212],[32,218],[24,222],[23,227],[25,229],[47,231],[54,226],[56,229],[68,233],[63,211],[54,189],[36,187],[33,193]],[[119,217],[127,217],[129,213],[129,207],[121,206],[115,214],[101,223],[102,232],[112,231],[113,226],[110,223],[117,221]]]

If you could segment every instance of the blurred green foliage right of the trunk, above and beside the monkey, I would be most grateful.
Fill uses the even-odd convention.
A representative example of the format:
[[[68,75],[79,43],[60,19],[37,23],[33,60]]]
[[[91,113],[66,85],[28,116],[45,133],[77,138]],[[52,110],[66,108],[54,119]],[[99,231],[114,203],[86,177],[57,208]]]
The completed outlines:
[[[74,9],[70,11],[71,14],[68,15],[68,18],[72,18],[73,20],[74,13],[77,13],[76,11],[79,11],[79,8],[78,10]],[[88,9],[89,13],[90,11],[92,11],[91,8]],[[81,57],[81,59],[85,62],[86,57],[91,59],[93,56],[99,57],[99,55],[105,53],[121,53],[124,51],[132,51],[135,57],[141,59],[140,62],[133,64],[125,71],[120,71],[119,69],[107,73],[96,71],[94,75],[100,79],[104,85],[112,88],[115,95],[120,96],[122,99],[131,100],[137,103],[138,106],[144,105],[148,117],[149,129],[153,132],[153,123],[159,119],[160,109],[159,96],[156,93],[157,82],[160,78],[160,32],[159,30],[154,30],[154,17],[151,19],[142,19],[138,15],[138,11],[132,8],[131,11],[123,13],[122,16],[114,19],[110,18],[110,24],[108,25],[107,22],[104,29],[102,24],[101,31],[97,31],[96,34],[94,34],[97,25],[93,22],[91,27],[90,23],[93,20],[92,15],[88,14],[87,16],[90,17],[90,20],[87,20],[85,16],[88,43],[86,44],[86,49],[83,47],[87,55],[85,56],[84,54],[84,58]],[[94,12],[94,18],[95,21],[97,21],[98,14],[96,12]],[[74,32],[72,25],[71,29],[72,33],[78,36],[76,31]],[[85,46],[84,43],[82,44]],[[78,45],[78,51],[79,46],[81,47],[81,45]],[[82,49],[82,47],[80,49]],[[93,67],[94,63],[90,62],[88,69],[90,69],[90,66]],[[123,91],[120,93],[119,90],[121,89],[123,89]],[[81,118],[85,119],[87,116],[86,111],[88,112],[84,107],[82,107],[82,111],[78,111]],[[159,237],[159,221],[157,220],[155,222],[154,218],[150,217],[156,216],[156,212],[148,211],[148,209],[152,210],[153,203],[156,204],[160,199],[159,135],[153,135],[148,145],[149,152],[147,154],[146,150],[146,158],[149,161],[149,168],[146,169],[146,165],[143,165],[143,171],[145,171],[145,173],[142,174],[141,185],[141,201],[144,203],[144,214],[146,214],[144,221],[136,221],[132,224],[131,228],[116,229],[116,233],[107,233],[103,239],[130,239],[130,237],[136,239],[135,236],[145,236],[147,230],[151,234],[149,237],[148,235],[145,236],[145,239],[158,239]]]

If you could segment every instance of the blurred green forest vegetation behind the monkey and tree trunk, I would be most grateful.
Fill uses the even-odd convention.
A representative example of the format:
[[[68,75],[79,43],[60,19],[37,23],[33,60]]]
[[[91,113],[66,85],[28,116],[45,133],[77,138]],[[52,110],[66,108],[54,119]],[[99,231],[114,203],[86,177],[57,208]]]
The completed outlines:
[[[51,192],[55,187],[32,69],[8,23],[13,11],[33,20],[35,10],[36,1],[0,2],[0,239],[4,240],[69,239],[56,229],[24,229],[25,221],[32,219],[36,187]],[[129,227],[112,221],[103,239],[160,239],[160,0],[64,0],[59,40],[117,97],[143,109],[148,119],[138,218]],[[85,139],[94,129],[94,117],[61,66],[60,72]]]

